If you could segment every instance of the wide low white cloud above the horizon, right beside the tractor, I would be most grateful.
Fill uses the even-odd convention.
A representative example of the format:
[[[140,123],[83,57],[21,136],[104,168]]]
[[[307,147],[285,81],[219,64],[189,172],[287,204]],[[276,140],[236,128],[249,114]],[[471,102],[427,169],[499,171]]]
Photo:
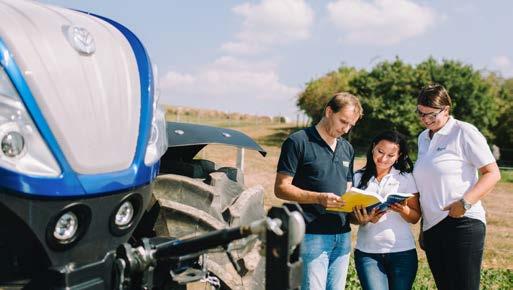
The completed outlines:
[[[293,114],[300,88],[283,84],[270,62],[221,57],[194,74],[168,72],[162,102],[259,115]]]

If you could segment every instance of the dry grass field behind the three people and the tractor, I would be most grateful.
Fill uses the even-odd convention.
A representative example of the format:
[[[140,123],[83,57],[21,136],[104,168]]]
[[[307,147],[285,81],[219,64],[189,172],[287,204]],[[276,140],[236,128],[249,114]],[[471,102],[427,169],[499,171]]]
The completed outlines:
[[[214,124],[218,126],[218,124]],[[264,187],[264,204],[267,208],[279,206],[283,200],[273,194],[276,164],[280,154],[280,145],[292,132],[298,130],[287,124],[236,124],[230,126],[242,131],[267,151],[263,158],[259,153],[246,151],[244,175],[246,186],[261,185]],[[200,158],[210,159],[223,166],[234,166],[236,149],[220,145],[209,145],[202,152]],[[355,169],[364,165],[365,159],[356,160]],[[484,200],[487,210],[487,236],[481,273],[482,289],[513,289],[513,170],[502,171],[502,180]],[[414,225],[412,230],[418,234],[419,227]],[[356,228],[353,229],[353,243]],[[435,289],[434,280],[429,271],[425,254],[418,250],[419,270],[415,280],[414,289]],[[361,289],[358,278],[351,264],[346,289]]]

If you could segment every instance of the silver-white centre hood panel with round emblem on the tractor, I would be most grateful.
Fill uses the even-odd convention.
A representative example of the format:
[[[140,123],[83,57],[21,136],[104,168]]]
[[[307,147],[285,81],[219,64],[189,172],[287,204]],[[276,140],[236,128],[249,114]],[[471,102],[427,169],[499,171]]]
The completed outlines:
[[[123,33],[87,13],[0,0],[0,40],[75,172],[129,168],[149,88]]]

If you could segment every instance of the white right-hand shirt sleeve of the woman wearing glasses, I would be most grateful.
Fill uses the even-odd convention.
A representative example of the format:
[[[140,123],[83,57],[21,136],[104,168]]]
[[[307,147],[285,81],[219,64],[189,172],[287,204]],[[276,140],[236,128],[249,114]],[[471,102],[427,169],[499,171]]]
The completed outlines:
[[[486,142],[486,138],[472,125],[465,126],[463,135],[463,152],[465,158],[476,168],[494,163],[492,151]]]

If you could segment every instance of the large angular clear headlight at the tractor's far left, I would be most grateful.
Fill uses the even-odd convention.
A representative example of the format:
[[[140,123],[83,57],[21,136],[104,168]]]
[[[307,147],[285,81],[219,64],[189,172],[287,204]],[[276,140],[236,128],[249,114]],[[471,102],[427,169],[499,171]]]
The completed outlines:
[[[1,66],[0,167],[35,176],[55,177],[61,174],[57,161]]]

